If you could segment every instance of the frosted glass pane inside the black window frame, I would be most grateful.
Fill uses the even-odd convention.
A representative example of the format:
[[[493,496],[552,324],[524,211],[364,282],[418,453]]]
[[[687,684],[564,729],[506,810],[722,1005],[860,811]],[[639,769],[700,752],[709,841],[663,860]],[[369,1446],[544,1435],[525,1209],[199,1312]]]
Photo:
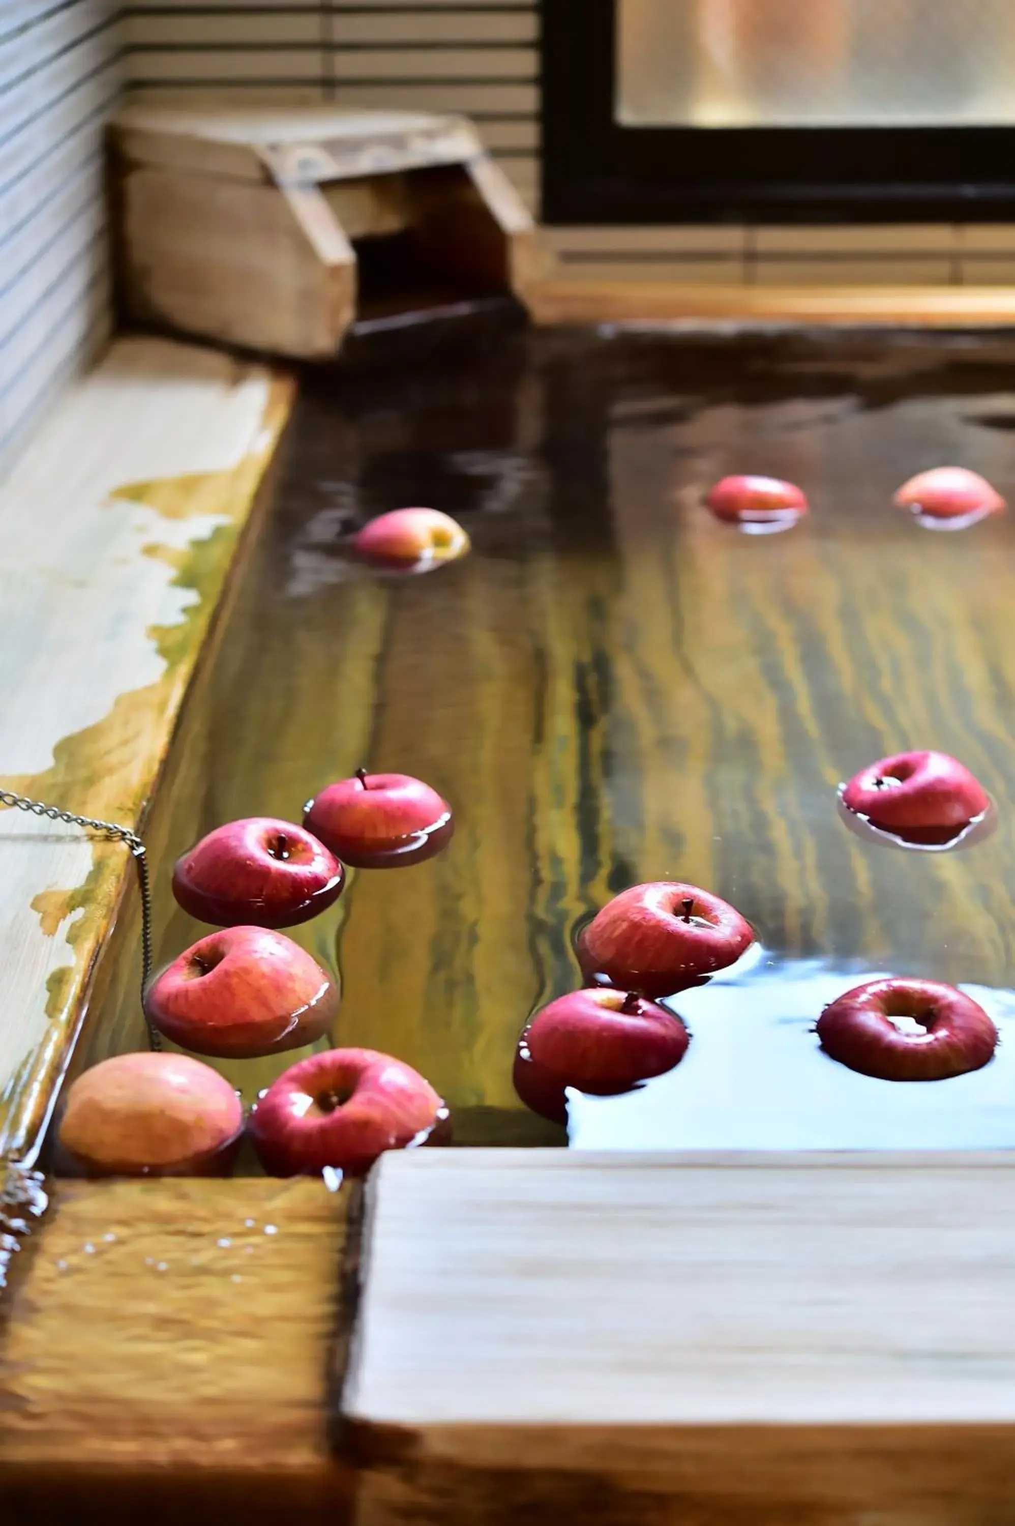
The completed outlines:
[[[629,127],[1015,122],[1015,0],[617,0]]]

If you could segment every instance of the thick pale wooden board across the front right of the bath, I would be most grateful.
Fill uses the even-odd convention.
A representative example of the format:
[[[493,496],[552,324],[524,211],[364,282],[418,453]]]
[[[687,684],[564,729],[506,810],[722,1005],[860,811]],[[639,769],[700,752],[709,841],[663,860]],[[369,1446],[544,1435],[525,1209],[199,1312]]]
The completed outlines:
[[[1003,1518],[1013,1257],[1004,1155],[389,1155],[359,1520]]]

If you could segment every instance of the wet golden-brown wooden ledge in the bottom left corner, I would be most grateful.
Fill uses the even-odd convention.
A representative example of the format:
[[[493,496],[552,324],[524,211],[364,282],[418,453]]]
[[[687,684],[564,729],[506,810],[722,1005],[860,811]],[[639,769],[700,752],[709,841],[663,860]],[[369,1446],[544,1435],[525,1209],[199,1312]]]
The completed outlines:
[[[325,1357],[351,1201],[307,1180],[61,1183],[0,1344],[5,1509],[340,1520]]]

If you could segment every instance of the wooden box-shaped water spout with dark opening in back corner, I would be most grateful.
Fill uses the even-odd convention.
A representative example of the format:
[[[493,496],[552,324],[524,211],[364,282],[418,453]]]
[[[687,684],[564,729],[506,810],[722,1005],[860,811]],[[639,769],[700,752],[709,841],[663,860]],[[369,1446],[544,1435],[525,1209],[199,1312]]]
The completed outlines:
[[[133,105],[111,140],[134,322],[322,360],[357,319],[533,275],[533,221],[459,116]]]

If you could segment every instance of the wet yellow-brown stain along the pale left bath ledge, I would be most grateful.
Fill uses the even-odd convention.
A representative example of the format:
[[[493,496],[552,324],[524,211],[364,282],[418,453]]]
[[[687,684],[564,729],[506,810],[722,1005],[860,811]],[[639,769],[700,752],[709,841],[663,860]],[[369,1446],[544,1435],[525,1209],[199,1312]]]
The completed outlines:
[[[226,522],[185,549],[150,543],[142,552],[159,555],[174,566],[172,586],[192,589],[197,595],[179,621],[153,626],[147,632],[165,661],[162,678],[121,694],[95,725],[61,739],[53,748],[50,768],[3,777],[5,789],[128,827],[142,821],[240,531],[290,403],[292,385],[276,380],[259,423],[258,447],[235,467],[136,482],[111,494],[113,502],[150,504],[165,517],[214,513],[224,516]],[[0,1103],[0,1154],[23,1154],[34,1143],[35,1131],[44,1120],[50,1085],[58,1082],[73,1044],[96,952],[131,873],[125,847],[95,841],[87,879],[78,887],[40,891],[32,903],[47,937],[75,917],[66,934],[75,958],[73,966],[50,977],[46,1012],[53,1025],[35,1051],[27,1077],[23,1077],[24,1108],[18,1105],[18,1094],[8,1093]]]

